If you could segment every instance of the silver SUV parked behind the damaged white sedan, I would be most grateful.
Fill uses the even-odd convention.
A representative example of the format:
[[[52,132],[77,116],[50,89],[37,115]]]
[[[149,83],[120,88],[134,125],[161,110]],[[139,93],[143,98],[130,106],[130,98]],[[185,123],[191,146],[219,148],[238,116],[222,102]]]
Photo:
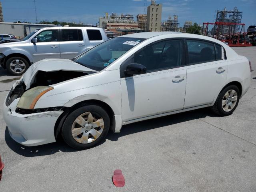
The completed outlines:
[[[0,44],[0,65],[12,75],[22,75],[39,60],[72,59],[106,40],[104,30],[97,27],[42,28],[20,42]]]

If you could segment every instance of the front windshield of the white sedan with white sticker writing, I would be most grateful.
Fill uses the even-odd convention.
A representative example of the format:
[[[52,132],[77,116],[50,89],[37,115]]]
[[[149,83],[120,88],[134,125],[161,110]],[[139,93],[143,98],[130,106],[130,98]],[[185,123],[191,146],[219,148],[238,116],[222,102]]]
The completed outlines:
[[[144,40],[143,38],[113,38],[85,52],[76,58],[74,62],[93,70],[101,71]]]

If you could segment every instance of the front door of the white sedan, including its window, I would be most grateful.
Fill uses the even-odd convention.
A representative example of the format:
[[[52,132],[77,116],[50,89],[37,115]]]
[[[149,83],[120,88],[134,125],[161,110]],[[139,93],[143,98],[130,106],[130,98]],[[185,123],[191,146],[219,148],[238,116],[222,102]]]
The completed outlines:
[[[182,40],[166,40],[147,46],[120,67],[123,121],[163,114],[184,107],[186,66]],[[146,74],[125,76],[130,63],[147,68]]]

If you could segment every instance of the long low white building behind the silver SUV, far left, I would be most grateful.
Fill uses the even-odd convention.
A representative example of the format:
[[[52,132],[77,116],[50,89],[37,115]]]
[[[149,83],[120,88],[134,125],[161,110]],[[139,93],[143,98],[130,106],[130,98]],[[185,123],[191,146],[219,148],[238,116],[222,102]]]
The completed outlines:
[[[36,29],[56,26],[53,24],[11,23],[0,22],[0,34],[12,34],[18,39],[24,38]]]

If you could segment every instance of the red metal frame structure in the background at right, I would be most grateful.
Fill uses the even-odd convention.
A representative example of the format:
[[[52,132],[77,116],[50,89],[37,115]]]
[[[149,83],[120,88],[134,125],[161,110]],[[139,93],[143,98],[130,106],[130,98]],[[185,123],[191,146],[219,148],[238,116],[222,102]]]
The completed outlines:
[[[214,25],[214,28],[213,28],[214,34],[212,35],[212,37],[224,43],[227,43],[228,46],[230,47],[252,46],[252,44],[248,41],[246,33],[244,32],[244,26],[245,26],[244,23],[227,23],[227,22],[203,23],[202,35],[208,36],[209,24]],[[204,28],[204,25],[206,25],[205,28]],[[236,26],[242,26],[239,33],[235,32]],[[221,34],[224,28],[226,28],[228,32],[226,34]]]

